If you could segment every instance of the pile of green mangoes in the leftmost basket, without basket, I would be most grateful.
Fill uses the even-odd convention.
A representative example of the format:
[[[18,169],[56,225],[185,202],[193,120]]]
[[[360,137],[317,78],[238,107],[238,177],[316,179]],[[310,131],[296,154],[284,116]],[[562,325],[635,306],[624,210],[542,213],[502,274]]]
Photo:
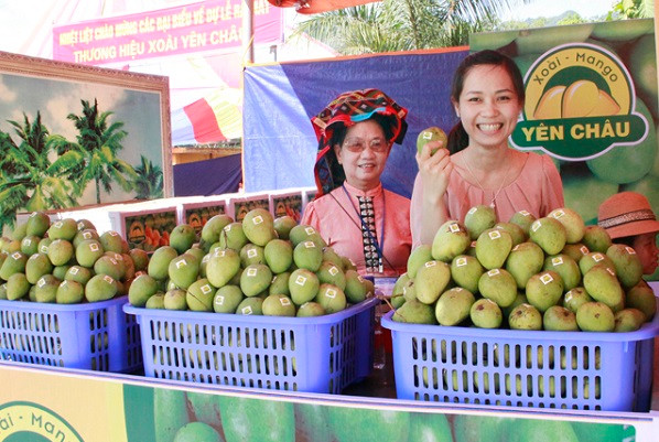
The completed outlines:
[[[58,304],[125,295],[149,256],[114,230],[99,235],[87,219],[51,223],[34,212],[0,238],[0,299]]]

